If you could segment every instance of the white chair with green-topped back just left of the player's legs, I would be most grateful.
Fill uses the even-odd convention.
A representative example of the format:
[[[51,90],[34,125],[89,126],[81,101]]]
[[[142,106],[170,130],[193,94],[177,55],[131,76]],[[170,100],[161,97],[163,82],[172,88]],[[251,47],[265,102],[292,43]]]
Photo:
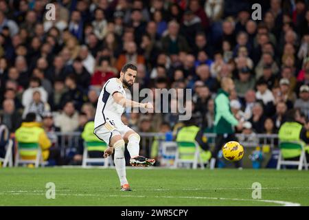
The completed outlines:
[[[84,142],[84,153],[82,155],[82,167],[86,168],[89,163],[104,164],[104,168],[107,168],[108,165],[113,166],[112,157],[89,157],[89,151],[102,151],[104,152],[107,148],[105,142]]]

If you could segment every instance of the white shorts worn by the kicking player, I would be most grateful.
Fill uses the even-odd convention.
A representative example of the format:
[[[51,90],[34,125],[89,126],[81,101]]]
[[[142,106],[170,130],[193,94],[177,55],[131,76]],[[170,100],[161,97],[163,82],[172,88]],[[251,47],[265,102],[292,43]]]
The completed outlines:
[[[128,131],[133,131],[130,129],[130,127],[122,122],[119,116],[105,115],[105,117],[106,123],[95,129],[94,133],[100,140],[106,142],[108,146],[113,136],[122,135],[123,138]]]

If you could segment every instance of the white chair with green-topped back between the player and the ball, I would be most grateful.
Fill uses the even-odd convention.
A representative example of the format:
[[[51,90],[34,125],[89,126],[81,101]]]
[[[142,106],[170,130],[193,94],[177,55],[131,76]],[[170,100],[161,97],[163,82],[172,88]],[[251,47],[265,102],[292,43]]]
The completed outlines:
[[[175,167],[179,167],[179,164],[192,164],[192,168],[196,169],[199,163],[203,169],[204,164],[208,164],[208,161],[203,161],[197,142],[177,142],[177,146]]]

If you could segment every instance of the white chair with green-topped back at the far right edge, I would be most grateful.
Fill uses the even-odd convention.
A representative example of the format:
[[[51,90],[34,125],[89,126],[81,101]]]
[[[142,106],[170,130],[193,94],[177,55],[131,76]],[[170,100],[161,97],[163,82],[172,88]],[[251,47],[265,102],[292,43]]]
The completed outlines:
[[[308,164],[306,159],[306,152],[304,150],[305,143],[304,142],[280,142],[279,143],[279,156],[278,156],[278,162],[277,162],[277,170],[281,169],[282,165],[294,165],[298,166],[298,170],[302,170],[303,166],[306,170],[308,170]],[[282,156],[282,151],[284,149],[295,149],[295,150],[301,150],[301,155],[299,156],[299,161],[293,161],[284,159]]]

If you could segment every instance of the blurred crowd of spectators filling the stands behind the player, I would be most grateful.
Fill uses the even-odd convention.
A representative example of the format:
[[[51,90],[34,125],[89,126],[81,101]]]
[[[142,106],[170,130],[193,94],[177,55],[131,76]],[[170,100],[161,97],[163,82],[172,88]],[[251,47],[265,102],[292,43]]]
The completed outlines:
[[[45,16],[54,3],[56,19]],[[139,89],[192,89],[196,124],[211,132],[220,79],[244,133],[276,133],[289,109],[309,118],[305,0],[0,1],[0,115],[11,133],[36,113],[45,131],[82,131],[102,85],[125,63]],[[173,104],[173,100],[171,104]],[[179,113],[125,113],[137,132],[175,130]],[[249,130],[248,130],[249,129]],[[50,133],[52,134],[52,133]],[[50,137],[53,138],[52,136]]]

